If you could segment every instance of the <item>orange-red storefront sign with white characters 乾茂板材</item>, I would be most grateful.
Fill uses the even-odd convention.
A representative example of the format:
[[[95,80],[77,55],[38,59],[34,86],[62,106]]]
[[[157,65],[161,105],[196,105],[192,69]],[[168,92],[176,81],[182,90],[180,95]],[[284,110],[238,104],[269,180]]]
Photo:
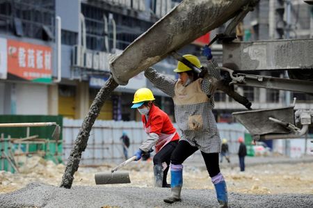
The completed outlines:
[[[10,77],[34,82],[51,82],[51,47],[8,39],[7,49]]]

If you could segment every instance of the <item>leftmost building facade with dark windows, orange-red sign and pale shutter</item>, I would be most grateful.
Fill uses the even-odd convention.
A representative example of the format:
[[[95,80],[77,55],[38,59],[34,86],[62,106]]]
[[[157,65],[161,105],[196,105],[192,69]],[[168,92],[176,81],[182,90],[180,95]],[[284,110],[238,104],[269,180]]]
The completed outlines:
[[[49,114],[55,2],[0,2],[0,113]]]

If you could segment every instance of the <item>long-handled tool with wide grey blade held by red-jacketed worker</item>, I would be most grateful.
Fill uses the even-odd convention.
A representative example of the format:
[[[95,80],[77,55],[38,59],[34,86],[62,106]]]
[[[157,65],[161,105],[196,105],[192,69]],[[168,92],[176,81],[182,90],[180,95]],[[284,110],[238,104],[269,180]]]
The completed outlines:
[[[131,161],[134,161],[136,156],[133,156],[127,161],[120,163],[120,165],[116,166],[111,170],[110,173],[96,173],[95,174],[95,182],[97,185],[99,184],[128,184],[130,183],[129,174],[127,172],[114,173],[116,170],[126,166]]]

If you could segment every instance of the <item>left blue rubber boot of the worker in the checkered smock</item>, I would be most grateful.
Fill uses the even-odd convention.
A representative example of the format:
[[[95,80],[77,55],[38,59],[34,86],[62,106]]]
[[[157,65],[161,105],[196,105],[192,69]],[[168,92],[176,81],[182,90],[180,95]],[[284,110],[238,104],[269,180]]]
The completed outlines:
[[[173,202],[179,202],[180,192],[182,191],[182,165],[170,166],[170,196],[163,201],[172,204]]]

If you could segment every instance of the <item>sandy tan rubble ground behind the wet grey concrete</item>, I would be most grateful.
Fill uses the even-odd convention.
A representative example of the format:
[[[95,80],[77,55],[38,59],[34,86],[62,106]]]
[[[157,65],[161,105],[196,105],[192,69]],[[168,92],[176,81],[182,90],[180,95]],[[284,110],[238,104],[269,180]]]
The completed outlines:
[[[110,171],[115,164],[104,164],[97,168],[80,167],[74,175],[73,186],[96,186],[94,175]],[[11,174],[0,171],[0,193],[9,193],[22,189],[31,182],[40,182],[59,186],[65,169],[63,164],[54,164],[40,157],[28,159],[26,166],[19,168],[21,173]],[[129,171],[131,184],[108,184],[107,187],[153,187],[152,161],[138,161],[123,168]],[[313,194],[313,161],[306,163],[268,163],[255,165],[240,172],[237,167],[221,166],[227,188],[233,193]],[[170,182],[170,174],[168,175]],[[211,189],[211,179],[204,167],[184,166],[184,189]]]

